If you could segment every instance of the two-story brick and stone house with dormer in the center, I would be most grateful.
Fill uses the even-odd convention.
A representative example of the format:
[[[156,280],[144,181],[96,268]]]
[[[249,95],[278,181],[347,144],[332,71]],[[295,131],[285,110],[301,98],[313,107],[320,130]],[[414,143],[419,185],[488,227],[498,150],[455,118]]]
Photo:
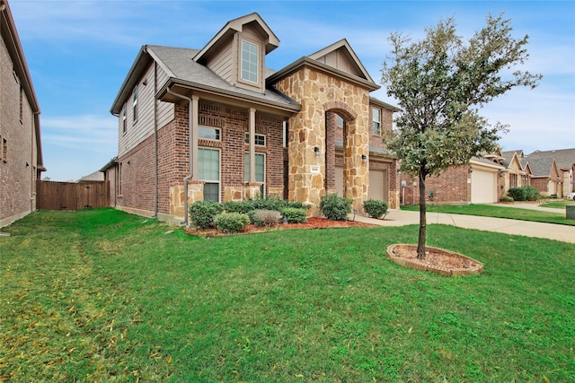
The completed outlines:
[[[102,171],[112,204],[164,219],[199,200],[281,196],[312,205],[338,192],[398,205],[397,161],[381,132],[398,109],[347,40],[274,72],[279,39],[252,13],[201,49],[143,46],[114,100],[118,157]]]

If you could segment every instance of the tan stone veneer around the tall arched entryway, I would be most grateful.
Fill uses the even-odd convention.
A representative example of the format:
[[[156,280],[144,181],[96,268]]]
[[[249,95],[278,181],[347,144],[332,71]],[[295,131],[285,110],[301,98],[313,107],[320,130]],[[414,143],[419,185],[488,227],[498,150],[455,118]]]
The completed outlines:
[[[363,210],[367,199],[369,170],[361,155],[369,154],[369,90],[341,78],[303,67],[274,84],[302,105],[289,119],[289,200],[311,205],[319,215],[321,197],[326,194],[326,112],[337,112],[346,120],[344,133],[343,193],[354,209]],[[317,147],[321,155],[317,156]]]

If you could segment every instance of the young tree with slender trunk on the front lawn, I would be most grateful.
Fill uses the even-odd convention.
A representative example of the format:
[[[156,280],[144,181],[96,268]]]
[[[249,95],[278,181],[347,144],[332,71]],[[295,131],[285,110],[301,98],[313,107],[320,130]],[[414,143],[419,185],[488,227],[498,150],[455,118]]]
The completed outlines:
[[[401,170],[417,176],[420,187],[418,257],[425,258],[426,186],[453,165],[469,162],[481,152],[492,152],[507,126],[490,126],[478,109],[515,86],[532,89],[541,74],[517,70],[528,57],[523,39],[513,39],[509,20],[487,18],[487,25],[464,43],[456,35],[454,19],[426,30],[426,37],[411,42],[401,33],[389,40],[394,50],[382,69],[382,83],[402,112],[397,130],[387,137],[388,148],[401,162]]]

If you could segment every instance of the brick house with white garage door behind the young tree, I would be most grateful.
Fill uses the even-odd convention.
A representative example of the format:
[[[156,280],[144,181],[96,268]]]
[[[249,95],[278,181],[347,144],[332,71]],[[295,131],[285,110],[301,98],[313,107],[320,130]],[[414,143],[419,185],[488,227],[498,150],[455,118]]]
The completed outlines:
[[[487,158],[488,157],[488,158]],[[496,156],[497,157],[497,156]],[[438,177],[426,179],[426,200],[439,204],[492,204],[500,199],[501,174],[504,167],[493,156],[473,157],[468,164],[452,166]],[[420,201],[418,178],[401,174],[401,204]]]

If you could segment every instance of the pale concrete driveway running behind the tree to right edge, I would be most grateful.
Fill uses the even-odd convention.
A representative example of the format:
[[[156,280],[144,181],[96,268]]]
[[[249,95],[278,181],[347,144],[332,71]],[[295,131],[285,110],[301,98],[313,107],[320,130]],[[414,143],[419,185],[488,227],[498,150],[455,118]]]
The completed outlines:
[[[548,209],[537,207],[535,210]],[[519,207],[519,206],[517,206]],[[526,207],[524,207],[526,208]],[[552,209],[553,213],[561,210]],[[390,210],[385,216],[385,220],[376,220],[357,215],[358,222],[374,223],[380,226],[403,226],[420,223],[419,212],[409,212],[400,209]],[[528,222],[509,220],[505,218],[479,217],[474,215],[448,214],[448,213],[427,213],[427,223],[443,223],[454,225],[465,229],[477,229],[481,231],[496,231],[506,234],[523,235],[526,237],[545,238],[561,240],[562,242],[575,243],[575,226],[558,225],[554,223]]]

